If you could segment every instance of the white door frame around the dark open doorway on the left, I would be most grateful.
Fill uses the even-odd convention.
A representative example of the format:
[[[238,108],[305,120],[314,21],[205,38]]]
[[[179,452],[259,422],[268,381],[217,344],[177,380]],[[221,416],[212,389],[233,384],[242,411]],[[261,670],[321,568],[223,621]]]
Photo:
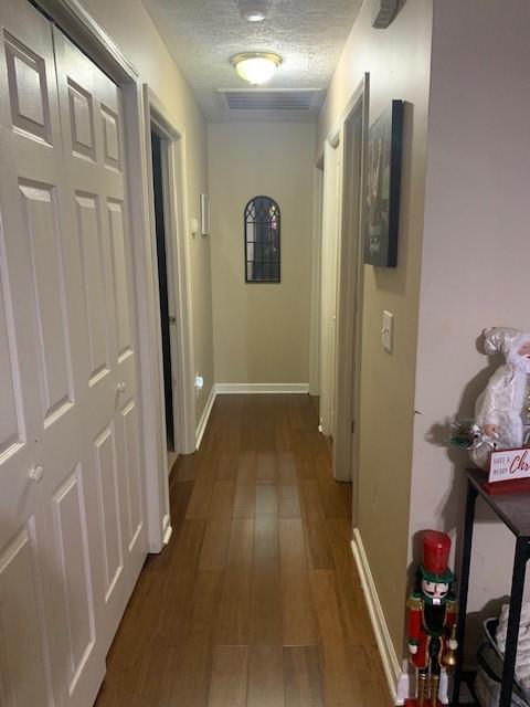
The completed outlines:
[[[191,314],[190,253],[186,238],[188,200],[186,190],[186,136],[170,118],[155,92],[144,84],[146,112],[146,151],[148,155],[149,220],[151,241],[156,247],[155,201],[152,198],[151,127],[165,140],[162,149],[162,191],[166,226],[166,255],[170,316],[174,317],[171,330],[171,373],[173,378],[174,451],[192,454],[195,440],[195,389],[193,383],[193,339]],[[158,263],[156,264],[158,278]],[[159,291],[156,292],[157,326],[161,333]],[[160,370],[163,371],[160,340]],[[163,374],[162,374],[162,405]]]

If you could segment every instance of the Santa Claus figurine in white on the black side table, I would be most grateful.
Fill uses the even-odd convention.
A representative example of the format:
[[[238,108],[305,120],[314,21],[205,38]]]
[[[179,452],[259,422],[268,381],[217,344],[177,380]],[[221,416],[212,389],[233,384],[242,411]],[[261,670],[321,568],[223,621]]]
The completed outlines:
[[[488,468],[495,449],[518,450],[530,444],[530,334],[508,327],[486,329],[484,349],[506,357],[475,409],[477,436],[470,456]]]

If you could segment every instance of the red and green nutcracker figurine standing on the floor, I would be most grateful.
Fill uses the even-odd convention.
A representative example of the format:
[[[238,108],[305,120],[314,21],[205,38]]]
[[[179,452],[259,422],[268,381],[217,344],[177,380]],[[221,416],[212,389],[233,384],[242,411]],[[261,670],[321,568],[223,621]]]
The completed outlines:
[[[451,592],[455,578],[447,567],[449,550],[445,532],[424,534],[423,564],[407,601],[409,651],[416,668],[416,697],[405,701],[409,707],[438,707],[441,673],[455,664],[457,604]]]

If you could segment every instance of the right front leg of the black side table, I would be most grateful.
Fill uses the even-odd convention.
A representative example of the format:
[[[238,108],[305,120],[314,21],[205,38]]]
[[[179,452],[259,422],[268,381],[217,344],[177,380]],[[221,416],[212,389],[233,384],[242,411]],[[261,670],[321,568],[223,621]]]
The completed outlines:
[[[499,707],[510,707],[516,673],[517,643],[519,640],[519,623],[521,620],[522,592],[524,590],[524,574],[529,546],[527,540],[518,538],[516,557],[513,559],[513,574],[511,579],[510,615],[506,636],[505,665],[502,668],[502,686],[500,689]]]

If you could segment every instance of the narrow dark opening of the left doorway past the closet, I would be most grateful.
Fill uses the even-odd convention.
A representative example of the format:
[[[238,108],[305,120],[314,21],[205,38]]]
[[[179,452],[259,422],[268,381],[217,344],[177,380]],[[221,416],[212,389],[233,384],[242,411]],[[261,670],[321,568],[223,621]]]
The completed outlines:
[[[171,334],[168,297],[168,263],[166,250],[166,223],[162,181],[163,140],[151,130],[152,191],[155,197],[155,224],[157,231],[158,287],[160,292],[160,321],[162,327],[163,388],[166,399],[166,433],[168,450],[174,451],[173,377],[171,372]]]

